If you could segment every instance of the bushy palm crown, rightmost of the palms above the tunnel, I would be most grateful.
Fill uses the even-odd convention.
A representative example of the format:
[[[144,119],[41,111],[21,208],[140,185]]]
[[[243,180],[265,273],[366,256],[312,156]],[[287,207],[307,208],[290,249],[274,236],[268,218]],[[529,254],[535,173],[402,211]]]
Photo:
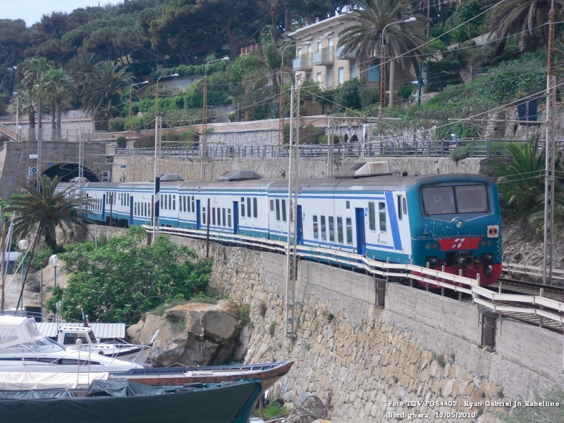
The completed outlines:
[[[118,113],[121,96],[133,82],[134,75],[110,61],[100,63],[82,82],[82,106],[97,116],[105,127]]]

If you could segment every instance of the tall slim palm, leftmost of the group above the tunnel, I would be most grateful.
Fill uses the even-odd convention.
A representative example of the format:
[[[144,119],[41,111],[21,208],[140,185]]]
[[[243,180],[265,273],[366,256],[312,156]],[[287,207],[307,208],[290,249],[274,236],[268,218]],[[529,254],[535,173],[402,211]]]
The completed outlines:
[[[42,90],[42,78],[47,71],[53,68],[53,63],[44,57],[34,57],[25,59],[22,64],[23,80],[22,85],[25,90],[34,96],[37,101],[37,129],[39,140],[43,139],[43,102],[45,93]],[[30,117],[30,141],[35,141],[35,117]]]

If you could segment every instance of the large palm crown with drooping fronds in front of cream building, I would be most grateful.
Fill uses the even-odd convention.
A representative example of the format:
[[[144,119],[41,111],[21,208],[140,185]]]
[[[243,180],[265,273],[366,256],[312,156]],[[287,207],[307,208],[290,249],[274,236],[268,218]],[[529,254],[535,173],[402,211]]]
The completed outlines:
[[[402,0],[353,0],[353,2],[359,8],[343,17],[343,20],[353,22],[353,25],[341,32],[337,47],[343,47],[345,54],[354,54],[356,51],[361,79],[366,78],[367,65],[381,56],[394,58],[400,68],[407,68],[411,63],[417,75],[419,70],[415,56],[419,54],[419,46],[424,42],[425,37],[422,35],[422,30],[415,31],[412,28],[415,25],[423,25],[422,21],[416,21],[411,25],[391,25],[406,19],[406,15],[411,10],[410,4]],[[385,33],[384,28],[386,28]],[[384,42],[383,33],[386,37]],[[385,55],[381,51],[383,45],[386,46]],[[405,55],[407,51],[410,51],[410,54]]]

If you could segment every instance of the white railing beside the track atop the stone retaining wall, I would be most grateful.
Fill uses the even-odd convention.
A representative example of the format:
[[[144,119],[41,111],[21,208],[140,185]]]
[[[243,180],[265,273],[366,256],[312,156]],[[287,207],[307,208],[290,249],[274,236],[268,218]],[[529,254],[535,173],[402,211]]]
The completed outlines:
[[[152,226],[143,227],[146,231],[152,232]],[[208,235],[205,230],[186,228],[160,227],[159,232],[249,247],[255,250],[267,250],[281,254],[286,252],[286,243],[280,240],[257,239],[232,233],[209,233]],[[317,262],[331,262],[338,266],[364,271],[379,281],[389,281],[391,278],[410,278],[412,282],[419,281],[422,285],[427,283],[430,286],[439,286],[443,293],[446,290],[458,293],[460,300],[471,298],[474,304],[502,316],[564,333],[564,288],[507,278],[501,278],[498,283],[491,286],[480,286],[478,279],[448,274],[413,264],[378,262],[362,255],[331,248],[296,245],[296,254],[300,258]],[[564,271],[562,273],[564,274]],[[377,295],[376,304],[384,305],[383,300],[379,302]]]

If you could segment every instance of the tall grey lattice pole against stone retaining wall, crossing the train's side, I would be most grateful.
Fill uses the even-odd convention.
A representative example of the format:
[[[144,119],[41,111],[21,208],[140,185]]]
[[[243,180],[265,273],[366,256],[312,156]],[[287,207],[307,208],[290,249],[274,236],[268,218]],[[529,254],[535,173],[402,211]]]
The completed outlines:
[[[286,336],[295,338],[295,283],[298,276],[296,235],[298,229],[298,154],[300,146],[300,87],[292,86],[290,157],[288,161],[288,240],[286,242]]]

